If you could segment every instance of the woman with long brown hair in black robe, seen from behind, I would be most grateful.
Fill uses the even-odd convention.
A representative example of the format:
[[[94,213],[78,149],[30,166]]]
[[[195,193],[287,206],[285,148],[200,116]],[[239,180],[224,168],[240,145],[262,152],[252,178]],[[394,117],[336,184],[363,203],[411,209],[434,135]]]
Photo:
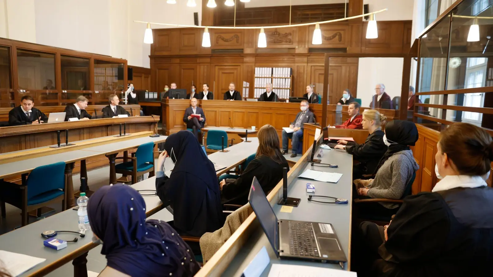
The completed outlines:
[[[271,125],[264,125],[257,133],[258,148],[253,159],[238,179],[225,179],[219,185],[222,191],[222,204],[245,205],[248,203],[253,177],[267,195],[282,179],[282,168],[289,168],[279,148],[279,136]]]

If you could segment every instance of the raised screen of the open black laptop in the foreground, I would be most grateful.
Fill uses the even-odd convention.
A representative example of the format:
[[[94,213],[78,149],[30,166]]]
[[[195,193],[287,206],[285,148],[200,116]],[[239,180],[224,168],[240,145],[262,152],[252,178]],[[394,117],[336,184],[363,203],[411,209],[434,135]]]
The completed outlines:
[[[251,182],[248,202],[250,203],[251,208],[253,208],[260,225],[262,225],[262,229],[264,229],[269,242],[271,242],[274,252],[276,252],[276,255],[279,257],[278,220],[256,177],[253,177],[253,181]]]

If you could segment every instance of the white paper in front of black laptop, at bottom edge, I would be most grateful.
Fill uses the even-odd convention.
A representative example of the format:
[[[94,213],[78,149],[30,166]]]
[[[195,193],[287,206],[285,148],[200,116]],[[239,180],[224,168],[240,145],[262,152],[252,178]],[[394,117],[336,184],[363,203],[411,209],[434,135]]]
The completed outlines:
[[[273,264],[269,277],[356,277],[356,273],[339,269]]]

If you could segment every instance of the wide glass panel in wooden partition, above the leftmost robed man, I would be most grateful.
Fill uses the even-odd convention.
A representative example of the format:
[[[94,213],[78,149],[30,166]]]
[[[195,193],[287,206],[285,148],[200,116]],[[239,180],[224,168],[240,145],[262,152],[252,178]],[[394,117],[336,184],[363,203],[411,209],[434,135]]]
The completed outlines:
[[[55,54],[17,49],[20,90],[54,90]]]

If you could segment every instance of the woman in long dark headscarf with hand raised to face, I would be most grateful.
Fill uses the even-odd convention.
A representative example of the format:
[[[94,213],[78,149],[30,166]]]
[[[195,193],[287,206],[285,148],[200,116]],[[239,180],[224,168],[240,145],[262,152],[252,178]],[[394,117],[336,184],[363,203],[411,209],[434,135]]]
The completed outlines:
[[[224,215],[219,182],[197,138],[189,131],[179,131],[166,139],[164,149],[158,160],[156,191],[164,207],[173,209],[176,231],[200,237],[221,228]],[[175,164],[170,177],[162,168],[166,156]]]

